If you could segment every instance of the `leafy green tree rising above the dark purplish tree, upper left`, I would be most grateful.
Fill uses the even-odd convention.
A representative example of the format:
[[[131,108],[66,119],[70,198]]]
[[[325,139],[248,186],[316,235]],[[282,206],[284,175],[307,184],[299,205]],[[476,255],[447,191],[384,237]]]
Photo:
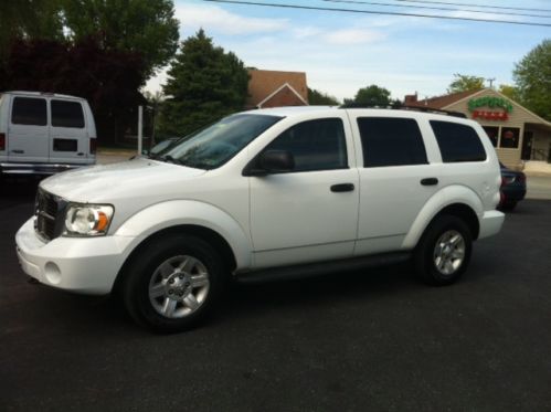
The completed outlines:
[[[105,50],[139,53],[145,80],[178,49],[179,23],[172,0],[59,0],[68,39],[94,36]]]

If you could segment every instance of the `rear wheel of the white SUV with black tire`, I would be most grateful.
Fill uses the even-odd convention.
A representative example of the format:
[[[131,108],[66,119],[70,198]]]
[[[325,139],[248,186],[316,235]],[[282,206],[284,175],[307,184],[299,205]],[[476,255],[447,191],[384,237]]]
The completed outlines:
[[[448,236],[452,237],[446,241]],[[467,268],[471,250],[473,235],[462,219],[446,214],[436,216],[415,247],[415,271],[430,285],[449,285]]]

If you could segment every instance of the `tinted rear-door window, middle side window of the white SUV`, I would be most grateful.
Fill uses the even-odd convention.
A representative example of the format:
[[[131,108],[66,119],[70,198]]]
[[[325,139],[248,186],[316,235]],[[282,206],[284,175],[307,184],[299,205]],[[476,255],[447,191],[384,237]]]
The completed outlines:
[[[364,167],[427,163],[417,122],[411,118],[360,117]]]

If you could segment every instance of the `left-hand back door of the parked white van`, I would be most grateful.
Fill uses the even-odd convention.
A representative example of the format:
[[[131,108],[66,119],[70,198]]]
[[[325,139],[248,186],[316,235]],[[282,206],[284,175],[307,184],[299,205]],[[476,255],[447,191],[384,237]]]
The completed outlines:
[[[50,136],[46,99],[14,96],[9,117],[9,161],[46,162]]]

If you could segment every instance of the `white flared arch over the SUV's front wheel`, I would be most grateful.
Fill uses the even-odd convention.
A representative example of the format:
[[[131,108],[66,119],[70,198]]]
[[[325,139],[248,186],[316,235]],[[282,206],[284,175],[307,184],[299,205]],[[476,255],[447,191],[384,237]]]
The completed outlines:
[[[223,210],[194,200],[171,200],[150,205],[126,222],[114,233],[135,237],[131,250],[151,234],[172,226],[193,224],[210,229],[225,239],[233,251],[237,268],[251,266],[251,241],[240,223]]]

